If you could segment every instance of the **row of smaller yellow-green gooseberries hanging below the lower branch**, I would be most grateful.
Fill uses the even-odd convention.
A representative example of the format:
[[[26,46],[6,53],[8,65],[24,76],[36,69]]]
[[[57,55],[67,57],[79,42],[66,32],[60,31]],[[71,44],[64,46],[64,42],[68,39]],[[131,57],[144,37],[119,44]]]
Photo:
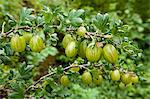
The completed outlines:
[[[120,81],[123,86],[128,84],[136,84],[139,82],[139,78],[134,73],[120,73],[119,70],[113,70],[110,72],[110,78],[112,81]],[[100,85],[103,82],[102,74],[92,75],[89,71],[84,71],[81,76],[81,80],[83,84],[90,85],[94,83],[95,85]],[[70,80],[67,75],[63,75],[60,79],[60,82],[63,86],[68,86],[70,84]]]

